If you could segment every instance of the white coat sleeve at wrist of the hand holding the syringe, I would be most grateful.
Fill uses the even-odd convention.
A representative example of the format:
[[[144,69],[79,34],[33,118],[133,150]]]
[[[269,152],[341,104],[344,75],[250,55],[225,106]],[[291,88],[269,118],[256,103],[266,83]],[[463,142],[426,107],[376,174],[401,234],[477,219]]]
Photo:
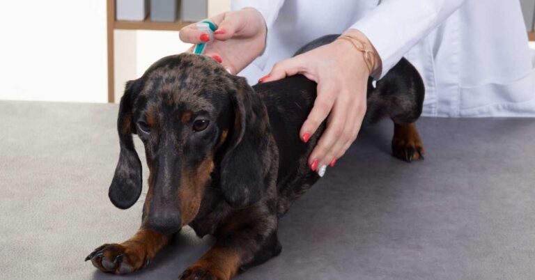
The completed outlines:
[[[267,38],[269,38],[269,31],[273,26],[275,20],[277,20],[279,10],[281,9],[283,4],[284,0],[232,0],[231,10],[240,10],[245,7],[252,7],[258,10],[258,12],[260,12],[261,15],[264,17],[265,26],[267,27],[268,33]],[[258,66],[258,68],[262,70],[265,68],[265,64],[267,63],[268,59],[266,55],[266,49],[270,47],[267,38],[263,54],[261,54],[261,56],[258,56],[253,62]]]

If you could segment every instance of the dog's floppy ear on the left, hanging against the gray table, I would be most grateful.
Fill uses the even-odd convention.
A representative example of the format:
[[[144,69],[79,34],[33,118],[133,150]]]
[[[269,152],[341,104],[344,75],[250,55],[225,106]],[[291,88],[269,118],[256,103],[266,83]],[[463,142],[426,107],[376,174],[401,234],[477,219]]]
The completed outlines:
[[[121,98],[117,118],[121,153],[114,179],[109,186],[108,196],[111,203],[121,209],[130,208],[141,194],[141,161],[139,161],[132,140],[132,134],[136,132],[132,121],[132,106],[138,93],[136,81],[128,81],[125,94]]]

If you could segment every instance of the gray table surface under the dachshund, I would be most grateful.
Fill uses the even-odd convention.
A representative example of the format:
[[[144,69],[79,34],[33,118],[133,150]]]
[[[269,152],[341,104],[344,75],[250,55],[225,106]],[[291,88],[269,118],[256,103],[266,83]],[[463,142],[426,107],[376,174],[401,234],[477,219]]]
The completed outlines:
[[[0,102],[0,279],[118,278],[84,263],[141,219],[142,203],[107,199],[117,109]],[[238,279],[535,279],[535,119],[418,126],[428,153],[412,164],[391,157],[391,123],[362,132],[281,219],[281,255]],[[124,278],[175,279],[213,242],[175,241]]]

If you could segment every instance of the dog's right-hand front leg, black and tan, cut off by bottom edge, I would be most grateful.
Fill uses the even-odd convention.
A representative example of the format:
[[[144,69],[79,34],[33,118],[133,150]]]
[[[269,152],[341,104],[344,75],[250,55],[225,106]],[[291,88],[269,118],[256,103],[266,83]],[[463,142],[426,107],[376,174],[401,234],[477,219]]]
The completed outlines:
[[[215,236],[216,244],[194,265],[178,277],[184,280],[229,280],[238,270],[258,265],[277,256],[281,245],[277,239],[277,217],[234,215]],[[248,221],[244,220],[249,216]],[[256,216],[258,217],[258,216]]]

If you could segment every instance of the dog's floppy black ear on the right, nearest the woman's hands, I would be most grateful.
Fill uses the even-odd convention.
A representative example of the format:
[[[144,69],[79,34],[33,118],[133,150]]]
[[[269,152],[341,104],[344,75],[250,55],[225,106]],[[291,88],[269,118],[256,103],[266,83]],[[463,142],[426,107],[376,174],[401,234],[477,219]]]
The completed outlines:
[[[259,201],[265,186],[262,162],[267,153],[267,114],[258,94],[244,78],[234,77],[237,86],[228,94],[234,123],[228,148],[221,162],[221,188],[224,199],[235,208]]]

